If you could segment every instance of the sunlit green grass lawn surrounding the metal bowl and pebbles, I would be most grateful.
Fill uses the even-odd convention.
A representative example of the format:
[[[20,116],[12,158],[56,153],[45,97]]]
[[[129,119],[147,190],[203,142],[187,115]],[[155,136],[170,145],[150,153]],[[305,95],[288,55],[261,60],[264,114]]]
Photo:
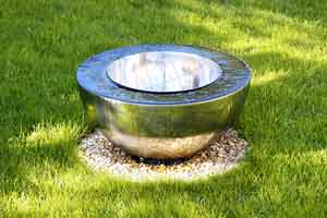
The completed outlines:
[[[219,48],[253,69],[237,169],[131,183],[78,159],[78,64],[145,43]],[[324,217],[326,147],[325,0],[0,0],[0,217]]]

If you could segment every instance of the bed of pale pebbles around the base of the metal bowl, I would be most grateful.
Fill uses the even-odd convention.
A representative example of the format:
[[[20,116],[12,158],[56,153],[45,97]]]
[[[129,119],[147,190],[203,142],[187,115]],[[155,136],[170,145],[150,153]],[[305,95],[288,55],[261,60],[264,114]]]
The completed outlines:
[[[229,129],[221,132],[213,143],[192,158],[174,161],[154,161],[134,158],[125,154],[96,130],[82,140],[82,156],[96,169],[132,181],[173,179],[194,180],[221,174],[237,166],[244,156],[247,142],[238,136],[237,131]]]

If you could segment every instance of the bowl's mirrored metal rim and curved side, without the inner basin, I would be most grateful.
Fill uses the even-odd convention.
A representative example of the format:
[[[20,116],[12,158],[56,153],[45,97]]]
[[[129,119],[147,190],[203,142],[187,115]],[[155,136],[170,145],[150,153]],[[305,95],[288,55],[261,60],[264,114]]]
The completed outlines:
[[[173,51],[210,59],[221,77],[195,90],[156,94],[123,88],[108,78],[108,65],[140,52]],[[86,60],[77,71],[90,126],[101,128],[125,150],[141,157],[192,156],[239,117],[250,85],[247,65],[225,52],[189,46],[125,47]]]

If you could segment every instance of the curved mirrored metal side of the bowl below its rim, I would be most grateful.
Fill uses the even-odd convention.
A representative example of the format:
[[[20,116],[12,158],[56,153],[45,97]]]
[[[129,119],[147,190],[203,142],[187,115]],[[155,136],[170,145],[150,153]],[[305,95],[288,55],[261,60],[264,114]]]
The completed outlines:
[[[136,105],[82,90],[88,122],[141,157],[187,157],[203,149],[241,112],[249,85],[225,98],[198,104]]]

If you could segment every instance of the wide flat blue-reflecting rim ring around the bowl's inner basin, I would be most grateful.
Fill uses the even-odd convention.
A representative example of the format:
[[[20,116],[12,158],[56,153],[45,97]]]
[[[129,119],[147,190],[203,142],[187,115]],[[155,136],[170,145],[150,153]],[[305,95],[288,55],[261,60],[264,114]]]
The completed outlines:
[[[222,70],[222,75],[215,82],[201,88],[177,93],[148,93],[120,86],[109,78],[107,66],[126,56],[152,52],[189,52],[210,59]],[[95,55],[77,69],[76,80],[80,88],[104,99],[133,105],[190,105],[225,98],[250,85],[251,69],[241,59],[220,50],[192,45],[137,45],[111,49]]]

